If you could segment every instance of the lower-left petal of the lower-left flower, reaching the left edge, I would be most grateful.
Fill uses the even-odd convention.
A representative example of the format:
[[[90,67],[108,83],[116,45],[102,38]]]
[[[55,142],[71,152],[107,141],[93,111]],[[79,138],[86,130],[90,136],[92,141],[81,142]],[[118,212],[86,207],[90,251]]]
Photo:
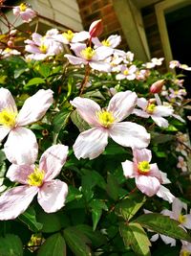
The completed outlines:
[[[37,192],[37,187],[26,185],[5,192],[0,197],[0,220],[12,220],[25,212]]]

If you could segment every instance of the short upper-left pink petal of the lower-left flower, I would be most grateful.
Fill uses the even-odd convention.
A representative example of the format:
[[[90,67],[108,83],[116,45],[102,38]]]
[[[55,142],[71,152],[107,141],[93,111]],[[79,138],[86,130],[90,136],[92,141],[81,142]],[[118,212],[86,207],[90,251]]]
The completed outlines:
[[[28,176],[33,173],[34,165],[14,165],[11,164],[6,176],[12,182],[28,184]]]

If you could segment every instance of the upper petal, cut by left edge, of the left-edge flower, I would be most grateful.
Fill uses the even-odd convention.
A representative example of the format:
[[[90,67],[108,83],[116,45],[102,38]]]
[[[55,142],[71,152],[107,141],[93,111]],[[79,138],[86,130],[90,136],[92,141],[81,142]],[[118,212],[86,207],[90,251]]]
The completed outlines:
[[[17,112],[17,108],[14,99],[11,96],[11,92],[3,87],[0,88],[0,112],[4,108],[9,108],[10,110]]]

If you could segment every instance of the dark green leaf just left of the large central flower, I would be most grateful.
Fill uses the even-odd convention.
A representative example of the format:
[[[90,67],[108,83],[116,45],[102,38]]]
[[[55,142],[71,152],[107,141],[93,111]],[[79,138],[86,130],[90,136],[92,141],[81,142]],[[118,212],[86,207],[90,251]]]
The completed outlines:
[[[61,128],[65,128],[69,117],[71,115],[71,110],[68,108],[61,110],[58,112],[53,118],[53,131],[55,133],[59,133]]]

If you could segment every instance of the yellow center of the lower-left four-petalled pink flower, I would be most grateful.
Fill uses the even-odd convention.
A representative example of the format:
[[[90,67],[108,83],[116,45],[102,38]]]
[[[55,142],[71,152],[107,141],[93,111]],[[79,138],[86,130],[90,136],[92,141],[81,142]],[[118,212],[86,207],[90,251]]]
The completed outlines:
[[[34,167],[33,173],[28,176],[28,184],[31,186],[40,187],[43,183],[45,172]]]

